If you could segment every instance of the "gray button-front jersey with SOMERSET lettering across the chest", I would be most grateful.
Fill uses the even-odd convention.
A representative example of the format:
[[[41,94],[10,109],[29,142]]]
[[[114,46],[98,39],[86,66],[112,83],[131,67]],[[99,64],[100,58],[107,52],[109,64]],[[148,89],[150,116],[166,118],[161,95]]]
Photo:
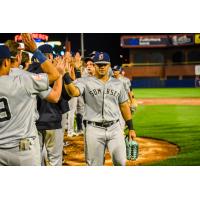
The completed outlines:
[[[80,78],[75,85],[85,101],[85,120],[102,122],[120,118],[119,104],[128,100],[121,81],[110,77],[106,83],[96,77]]]

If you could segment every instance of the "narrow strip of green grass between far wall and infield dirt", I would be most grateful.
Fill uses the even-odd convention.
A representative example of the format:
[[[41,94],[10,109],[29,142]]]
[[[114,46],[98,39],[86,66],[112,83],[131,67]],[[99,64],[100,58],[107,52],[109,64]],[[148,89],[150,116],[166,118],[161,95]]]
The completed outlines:
[[[200,98],[200,88],[136,88],[138,98]]]

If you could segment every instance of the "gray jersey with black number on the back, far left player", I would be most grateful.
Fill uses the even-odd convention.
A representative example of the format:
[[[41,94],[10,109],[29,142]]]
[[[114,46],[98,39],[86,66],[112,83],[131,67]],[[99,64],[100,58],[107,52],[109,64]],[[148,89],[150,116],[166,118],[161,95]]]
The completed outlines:
[[[14,68],[8,76],[0,77],[1,148],[16,147],[20,139],[34,136],[38,117],[35,96],[48,89],[46,74],[32,74]]]

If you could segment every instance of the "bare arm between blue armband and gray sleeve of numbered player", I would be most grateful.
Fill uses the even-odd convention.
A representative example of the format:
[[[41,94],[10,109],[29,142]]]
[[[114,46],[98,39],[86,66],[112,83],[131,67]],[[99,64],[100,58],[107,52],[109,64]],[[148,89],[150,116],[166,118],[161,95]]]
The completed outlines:
[[[60,76],[58,70],[53,66],[53,64],[49,60],[43,62],[41,64],[41,68],[43,72],[47,73],[49,78],[49,84],[53,83]]]

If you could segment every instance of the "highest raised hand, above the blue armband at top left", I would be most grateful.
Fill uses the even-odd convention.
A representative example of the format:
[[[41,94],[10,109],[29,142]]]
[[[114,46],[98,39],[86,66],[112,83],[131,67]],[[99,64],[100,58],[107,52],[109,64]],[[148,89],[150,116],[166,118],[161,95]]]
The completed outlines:
[[[37,45],[30,33],[22,33],[22,41],[26,51],[34,52],[37,49]]]

